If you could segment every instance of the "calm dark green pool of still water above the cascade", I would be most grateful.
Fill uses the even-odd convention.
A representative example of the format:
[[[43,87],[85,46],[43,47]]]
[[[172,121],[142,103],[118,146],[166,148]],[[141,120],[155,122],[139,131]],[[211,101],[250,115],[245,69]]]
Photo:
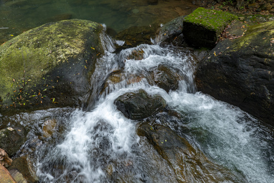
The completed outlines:
[[[151,2],[158,3],[151,5]],[[197,7],[190,0],[3,0],[0,3],[0,44],[51,21],[86,19],[105,23],[119,32],[130,26],[165,23]]]

